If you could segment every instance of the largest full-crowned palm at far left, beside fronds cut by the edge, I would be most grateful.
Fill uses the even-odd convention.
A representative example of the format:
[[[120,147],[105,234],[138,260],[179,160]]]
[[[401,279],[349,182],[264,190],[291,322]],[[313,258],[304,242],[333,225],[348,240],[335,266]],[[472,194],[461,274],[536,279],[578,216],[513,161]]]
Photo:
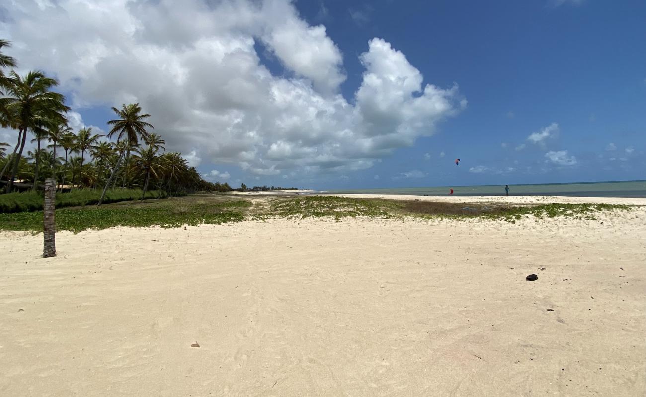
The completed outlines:
[[[16,116],[20,138],[20,148],[13,160],[14,166],[6,187],[6,191],[11,192],[20,159],[23,156],[27,130],[34,131],[53,122],[67,122],[63,113],[69,108],[65,106],[65,97],[62,94],[50,91],[50,88],[58,85],[56,79],[45,77],[43,72],[29,72],[25,77],[11,72],[9,77],[1,81],[1,84],[9,96],[0,98],[2,104],[0,107],[5,107],[8,114]]]

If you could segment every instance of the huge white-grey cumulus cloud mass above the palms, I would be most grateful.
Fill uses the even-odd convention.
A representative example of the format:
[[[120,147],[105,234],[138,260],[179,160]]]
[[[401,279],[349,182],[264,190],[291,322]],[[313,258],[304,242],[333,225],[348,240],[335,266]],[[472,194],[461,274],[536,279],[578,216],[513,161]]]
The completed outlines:
[[[0,32],[21,66],[56,75],[77,110],[139,102],[167,148],[194,167],[370,168],[466,106],[457,85],[425,84],[376,37],[360,54],[362,81],[348,101],[339,47],[287,0],[20,1],[6,14]],[[270,72],[258,45],[284,73]]]

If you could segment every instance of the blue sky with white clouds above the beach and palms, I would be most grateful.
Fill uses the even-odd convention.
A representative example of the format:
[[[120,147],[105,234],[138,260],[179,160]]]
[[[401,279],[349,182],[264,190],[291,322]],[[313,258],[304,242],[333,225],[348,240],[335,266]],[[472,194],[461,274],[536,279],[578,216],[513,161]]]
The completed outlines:
[[[641,0],[0,5],[3,50],[60,81],[73,128],[138,102],[233,187],[646,179],[644,21]]]

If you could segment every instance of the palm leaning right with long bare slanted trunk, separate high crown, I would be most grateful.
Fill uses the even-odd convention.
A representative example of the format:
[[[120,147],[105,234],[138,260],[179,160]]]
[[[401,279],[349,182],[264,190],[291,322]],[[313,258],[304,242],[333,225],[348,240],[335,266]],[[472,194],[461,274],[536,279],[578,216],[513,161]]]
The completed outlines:
[[[118,134],[117,142],[121,141],[122,139],[125,139],[127,140],[128,147],[134,147],[135,145],[138,145],[138,139],[140,137],[141,139],[147,139],[149,137],[149,134],[146,131],[146,127],[149,127],[149,128],[154,128],[154,127],[152,127],[151,123],[147,123],[146,121],[143,121],[143,119],[145,119],[146,117],[150,117],[151,115],[140,114],[141,107],[139,106],[138,103],[123,105],[123,108],[121,108],[121,110],[113,107],[112,110],[114,110],[114,112],[120,118],[108,121],[108,124],[112,125],[112,129],[110,130],[108,137],[112,137],[115,134]],[[119,159],[117,160],[117,163],[114,169],[112,170],[112,174],[110,174],[110,179],[108,179],[108,182],[105,184],[105,187],[103,188],[103,193],[101,193],[101,198],[99,198],[99,203],[97,205],[101,205],[101,203],[103,202],[103,198],[105,197],[105,192],[108,190],[108,187],[110,186],[110,182],[112,182],[112,178],[114,178],[114,175],[118,172],[119,165],[121,164],[121,160],[123,160],[124,154],[125,154],[125,151],[121,152],[121,155],[119,156]]]

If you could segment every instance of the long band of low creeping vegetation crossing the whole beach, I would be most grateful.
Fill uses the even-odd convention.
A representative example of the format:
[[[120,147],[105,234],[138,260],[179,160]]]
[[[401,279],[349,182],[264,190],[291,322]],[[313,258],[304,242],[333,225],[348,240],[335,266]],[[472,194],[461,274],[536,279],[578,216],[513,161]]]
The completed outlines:
[[[80,192],[79,192],[80,193]],[[154,194],[154,192],[150,192]],[[132,192],[134,196],[140,191]],[[98,196],[95,192],[94,198]],[[25,196],[33,197],[33,196]],[[107,195],[110,198],[109,195]],[[249,201],[231,194],[191,194],[182,198],[147,201],[126,201],[104,207],[56,210],[57,230],[79,232],[108,227],[180,227],[201,223],[237,222],[245,219],[322,218],[340,221],[343,218],[375,219],[409,217],[422,219],[499,219],[516,222],[523,217],[596,219],[603,211],[630,210],[625,205],[549,204],[510,207],[500,204],[433,203],[431,201],[394,201],[357,199],[338,196],[266,197]],[[43,212],[0,214],[0,230],[32,230],[43,228]]]

